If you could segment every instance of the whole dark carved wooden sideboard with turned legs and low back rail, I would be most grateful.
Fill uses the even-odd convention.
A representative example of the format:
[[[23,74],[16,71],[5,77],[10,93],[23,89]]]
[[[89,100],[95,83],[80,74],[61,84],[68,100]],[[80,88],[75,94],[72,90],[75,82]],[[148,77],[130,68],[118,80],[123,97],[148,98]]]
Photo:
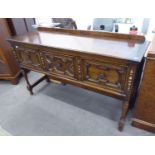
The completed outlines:
[[[8,39],[22,68],[49,78],[123,100],[119,130],[136,96],[149,42],[144,36],[39,27],[37,32]]]

